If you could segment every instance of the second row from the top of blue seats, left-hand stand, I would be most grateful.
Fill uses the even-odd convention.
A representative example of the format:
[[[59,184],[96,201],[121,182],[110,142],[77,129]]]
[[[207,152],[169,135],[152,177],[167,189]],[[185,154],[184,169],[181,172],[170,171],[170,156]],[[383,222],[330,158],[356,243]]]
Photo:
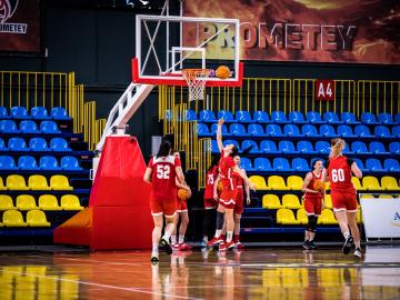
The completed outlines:
[[[60,133],[54,121],[41,121],[40,127],[34,121],[23,120],[20,122],[19,129],[13,120],[1,120],[0,132],[2,133]]]

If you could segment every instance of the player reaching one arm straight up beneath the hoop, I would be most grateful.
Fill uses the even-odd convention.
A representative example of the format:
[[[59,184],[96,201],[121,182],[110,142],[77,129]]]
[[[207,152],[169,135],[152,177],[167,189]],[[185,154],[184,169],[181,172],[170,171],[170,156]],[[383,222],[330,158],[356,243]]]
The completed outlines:
[[[238,154],[238,148],[234,144],[227,144],[223,147],[222,144],[222,124],[223,119],[218,121],[217,127],[217,143],[218,149],[221,152],[221,159],[219,162],[219,176],[222,181],[222,192],[219,199],[219,204],[217,209],[217,230],[216,234],[208,242],[208,246],[214,246],[218,243],[219,238],[221,236],[222,227],[224,218],[227,221],[227,240],[220,243],[220,251],[224,251],[227,249],[231,249],[234,247],[232,236],[233,236],[233,209],[236,199],[238,196],[238,188],[233,184],[232,172],[237,172],[246,182],[248,182],[250,189],[256,190],[254,183],[252,183],[246,173],[236,164],[233,158]]]

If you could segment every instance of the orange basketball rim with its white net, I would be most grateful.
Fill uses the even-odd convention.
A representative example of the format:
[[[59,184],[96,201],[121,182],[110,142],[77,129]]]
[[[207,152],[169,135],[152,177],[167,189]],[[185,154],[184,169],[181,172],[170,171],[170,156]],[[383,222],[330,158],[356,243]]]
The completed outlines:
[[[204,87],[210,69],[183,69],[182,77],[188,82],[189,101],[204,100]]]

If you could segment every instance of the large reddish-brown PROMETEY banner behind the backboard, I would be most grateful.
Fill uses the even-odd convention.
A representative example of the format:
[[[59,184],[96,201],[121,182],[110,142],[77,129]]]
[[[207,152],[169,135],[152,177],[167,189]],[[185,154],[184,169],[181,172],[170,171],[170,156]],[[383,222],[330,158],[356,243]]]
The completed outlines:
[[[183,16],[239,19],[242,60],[400,64],[398,0],[183,1]],[[218,30],[183,27],[183,43]],[[207,57],[223,58],[232,34],[211,41]]]

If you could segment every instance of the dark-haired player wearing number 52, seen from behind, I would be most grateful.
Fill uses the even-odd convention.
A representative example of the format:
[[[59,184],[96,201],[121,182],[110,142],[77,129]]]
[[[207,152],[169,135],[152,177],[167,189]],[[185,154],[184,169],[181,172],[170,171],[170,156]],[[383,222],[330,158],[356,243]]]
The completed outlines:
[[[159,243],[168,254],[172,253],[169,239],[174,228],[173,221],[177,214],[176,178],[180,183],[184,180],[181,162],[179,158],[171,156],[171,142],[163,139],[157,156],[150,159],[143,176],[143,180],[151,184],[150,209],[154,222],[151,252],[151,261],[153,262],[159,261]],[[163,214],[167,224],[161,238]]]

